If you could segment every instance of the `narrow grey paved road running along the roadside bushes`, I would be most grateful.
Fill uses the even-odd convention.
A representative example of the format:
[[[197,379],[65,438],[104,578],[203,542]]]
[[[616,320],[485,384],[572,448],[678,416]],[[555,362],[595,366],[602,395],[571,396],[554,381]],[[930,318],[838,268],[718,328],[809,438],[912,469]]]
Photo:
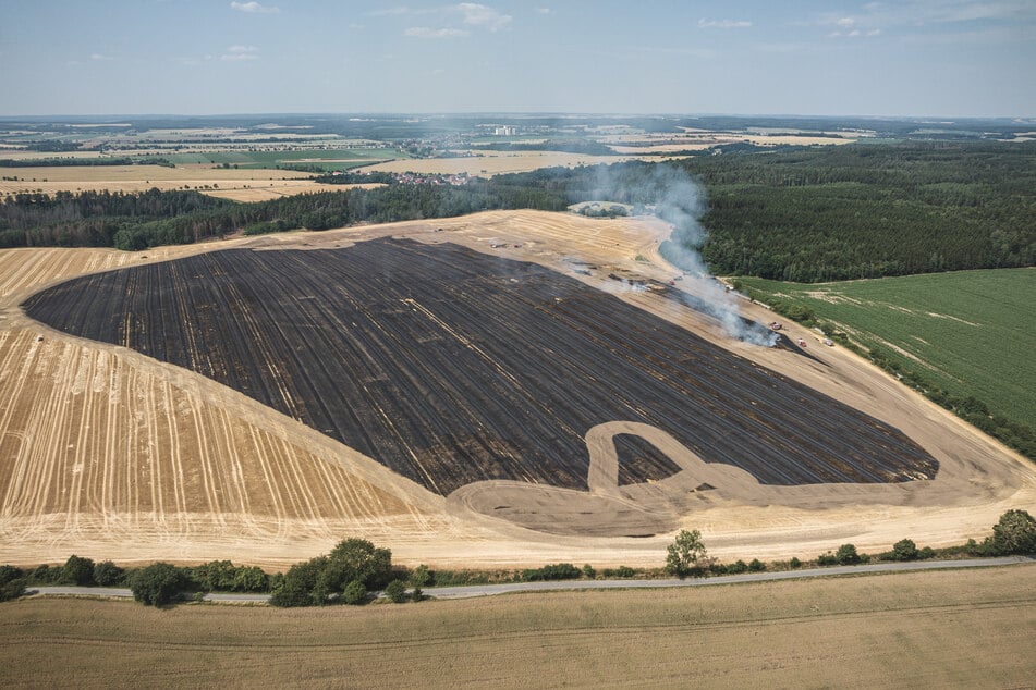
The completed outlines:
[[[976,558],[970,560],[922,560],[911,563],[878,563],[863,566],[834,566],[812,568],[808,570],[782,570],[780,572],[745,572],[743,575],[723,575],[711,578],[686,580],[568,580],[559,582],[511,582],[508,584],[473,584],[465,587],[428,588],[425,593],[436,599],[471,599],[490,596],[510,592],[543,592],[552,590],[605,590],[605,589],[649,589],[662,587],[708,587],[714,584],[733,584],[738,582],[763,582],[767,580],[794,580],[818,578],[834,575],[863,575],[868,572],[892,572],[901,570],[942,570],[946,568],[987,568],[1023,563],[1036,563],[1029,556],[1008,556],[1004,558]],[[29,593],[38,596],[114,596],[132,597],[127,589],[106,587],[33,587]],[[379,596],[383,596],[381,592]],[[255,602],[269,601],[269,594],[230,594],[209,593],[207,602]]]

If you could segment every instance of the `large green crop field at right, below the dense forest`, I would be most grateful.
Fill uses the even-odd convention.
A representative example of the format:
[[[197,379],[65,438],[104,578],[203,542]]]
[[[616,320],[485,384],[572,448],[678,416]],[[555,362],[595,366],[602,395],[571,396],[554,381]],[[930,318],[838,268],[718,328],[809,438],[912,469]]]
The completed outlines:
[[[804,305],[905,371],[1036,426],[1036,269],[813,285],[740,281],[761,301]]]

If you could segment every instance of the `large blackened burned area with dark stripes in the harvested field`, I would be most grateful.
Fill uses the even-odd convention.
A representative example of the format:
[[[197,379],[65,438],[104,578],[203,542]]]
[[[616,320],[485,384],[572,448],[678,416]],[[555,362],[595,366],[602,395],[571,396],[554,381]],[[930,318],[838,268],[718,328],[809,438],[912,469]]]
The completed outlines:
[[[533,263],[456,245],[232,249],[76,279],[26,312],[231,386],[426,489],[585,490],[587,430],[657,427],[763,484],[931,479],[897,429]],[[679,467],[636,436],[621,483]]]

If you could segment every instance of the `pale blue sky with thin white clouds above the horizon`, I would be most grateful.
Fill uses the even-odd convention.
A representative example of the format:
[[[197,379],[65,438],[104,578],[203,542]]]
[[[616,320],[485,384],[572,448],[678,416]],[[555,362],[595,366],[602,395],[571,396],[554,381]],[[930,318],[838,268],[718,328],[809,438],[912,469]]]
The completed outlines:
[[[0,115],[1036,116],[1036,0],[0,0]]]

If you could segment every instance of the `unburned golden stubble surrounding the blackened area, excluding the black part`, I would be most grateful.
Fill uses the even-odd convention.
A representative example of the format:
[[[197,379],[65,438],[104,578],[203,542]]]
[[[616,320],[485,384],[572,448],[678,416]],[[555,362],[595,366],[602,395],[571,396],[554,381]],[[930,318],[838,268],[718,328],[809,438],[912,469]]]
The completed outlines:
[[[680,527],[700,529],[720,557],[810,558],[848,542],[887,550],[906,537],[918,545],[948,545],[983,538],[1009,508],[1036,507],[1031,463],[855,356],[820,347],[795,326],[791,335],[812,338],[816,361],[730,341],[708,318],[607,279],[615,271],[660,281],[672,275],[657,252],[666,234],[647,220],[498,211],[136,254],[4,250],[0,563],[63,562],[76,553],[122,563],[230,558],[283,568],[355,535],[389,546],[397,560],[412,565],[661,565],[671,533],[566,537],[487,517],[240,393],[126,348],[52,331],[17,307],[46,285],[92,271],[222,247],[336,247],[379,236],[454,242],[618,291],[622,299],[892,423],[940,463],[931,481],[781,491],[719,486],[719,498],[683,515]],[[574,259],[598,270],[577,273]],[[686,280],[681,289],[696,287]],[[754,305],[744,308],[757,320],[773,318]],[[529,509],[537,508],[533,503]],[[558,516],[570,518],[585,519],[575,512]]]

